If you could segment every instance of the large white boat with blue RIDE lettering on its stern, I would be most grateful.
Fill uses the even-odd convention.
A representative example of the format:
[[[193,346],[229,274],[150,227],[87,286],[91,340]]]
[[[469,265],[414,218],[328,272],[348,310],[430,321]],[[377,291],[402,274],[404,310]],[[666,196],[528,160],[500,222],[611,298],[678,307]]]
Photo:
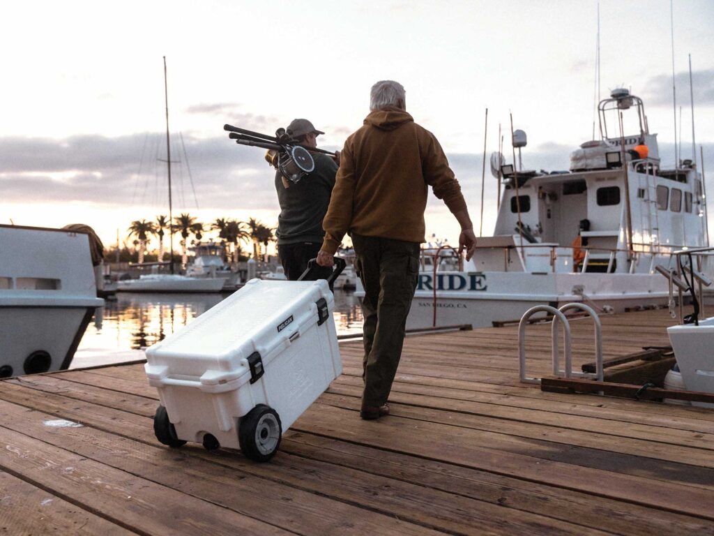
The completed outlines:
[[[667,303],[656,267],[668,267],[675,249],[706,244],[701,175],[688,160],[660,166],[637,96],[618,89],[598,109],[602,139],[573,152],[570,171],[501,168],[494,236],[479,238],[461,269],[444,267],[441,257],[423,260],[407,328],[491,326],[538,304],[622,311]],[[620,111],[635,119],[633,134],[608,131],[606,116]],[[641,145],[644,158],[633,155]]]

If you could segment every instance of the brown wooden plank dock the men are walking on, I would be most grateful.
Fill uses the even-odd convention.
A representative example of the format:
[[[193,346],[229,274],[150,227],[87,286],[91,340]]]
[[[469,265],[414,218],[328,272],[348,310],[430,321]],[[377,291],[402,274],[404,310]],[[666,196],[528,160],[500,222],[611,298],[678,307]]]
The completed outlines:
[[[668,344],[603,317],[605,357]],[[579,362],[593,325],[572,322]],[[518,383],[517,327],[408,337],[392,415],[358,417],[361,343],[272,462],[154,437],[142,364],[0,382],[0,534],[714,534],[714,412]],[[528,327],[548,374],[550,325]]]

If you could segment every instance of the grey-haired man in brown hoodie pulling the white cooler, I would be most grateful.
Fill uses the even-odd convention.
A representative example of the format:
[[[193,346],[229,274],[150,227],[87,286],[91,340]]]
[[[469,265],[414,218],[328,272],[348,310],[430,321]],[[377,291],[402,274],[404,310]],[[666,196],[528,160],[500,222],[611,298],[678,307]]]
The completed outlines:
[[[318,264],[331,266],[346,233],[363,287],[364,392],[360,416],[378,419],[401,358],[406,317],[425,242],[424,210],[431,186],[461,225],[459,252],[476,247],[461,187],[441,145],[406,112],[404,88],[385,80],[372,86],[370,114],[348,137],[323,221]]]

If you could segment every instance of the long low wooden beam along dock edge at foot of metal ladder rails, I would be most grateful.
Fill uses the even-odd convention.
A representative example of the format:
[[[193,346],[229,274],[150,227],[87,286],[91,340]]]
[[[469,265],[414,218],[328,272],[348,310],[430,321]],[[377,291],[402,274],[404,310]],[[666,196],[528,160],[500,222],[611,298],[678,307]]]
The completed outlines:
[[[661,389],[660,387],[648,387],[614,383],[614,382],[593,382],[587,379],[563,379],[563,378],[543,378],[540,388],[548,390],[570,389],[571,392],[603,392],[613,397],[629,397],[640,400],[659,400],[672,398],[675,400],[689,400],[691,402],[708,402],[714,404],[714,394],[700,391],[676,391],[675,389]]]

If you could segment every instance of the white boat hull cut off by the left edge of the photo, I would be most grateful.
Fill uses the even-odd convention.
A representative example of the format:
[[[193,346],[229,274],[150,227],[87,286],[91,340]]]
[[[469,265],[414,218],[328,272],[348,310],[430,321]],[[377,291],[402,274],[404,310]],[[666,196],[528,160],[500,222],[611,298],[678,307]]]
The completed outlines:
[[[102,304],[88,234],[0,225],[0,377],[68,368]]]

